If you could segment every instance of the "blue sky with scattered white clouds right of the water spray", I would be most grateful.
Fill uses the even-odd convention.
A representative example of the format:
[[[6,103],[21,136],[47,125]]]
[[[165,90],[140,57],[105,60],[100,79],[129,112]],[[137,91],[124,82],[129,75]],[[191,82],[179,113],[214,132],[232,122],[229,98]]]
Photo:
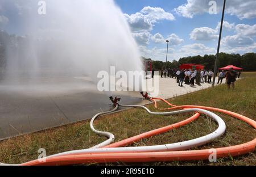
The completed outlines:
[[[180,57],[216,53],[223,1],[217,0],[216,6],[208,0],[115,0],[126,15],[142,56],[153,60],[165,60],[166,43],[170,35],[170,60]],[[216,7],[216,14],[209,14],[210,7]],[[225,24],[222,31],[221,52],[256,52],[256,1],[228,0],[226,3]],[[146,8],[146,11],[143,9]],[[150,10],[148,10],[150,9]],[[161,13],[163,16],[161,16]],[[144,23],[150,16],[158,14],[152,28]],[[174,18],[166,18],[166,15]],[[144,16],[143,16],[144,15]],[[142,20],[143,19],[143,20]],[[146,19],[146,20],[145,20]],[[136,29],[133,28],[136,24]],[[138,29],[138,26],[141,28]],[[162,42],[154,39],[155,34],[162,36]],[[176,41],[177,40],[177,41]],[[172,44],[176,41],[176,44]],[[174,42],[175,43],[175,42]]]

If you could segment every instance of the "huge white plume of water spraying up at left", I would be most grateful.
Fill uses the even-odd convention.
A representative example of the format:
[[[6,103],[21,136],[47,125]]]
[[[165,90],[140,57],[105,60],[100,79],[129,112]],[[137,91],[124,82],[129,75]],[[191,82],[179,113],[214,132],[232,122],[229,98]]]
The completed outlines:
[[[38,1],[1,0],[0,13],[12,11],[16,19],[9,23],[25,36],[7,49],[7,80],[87,75],[96,83],[98,71],[110,66],[142,70],[137,44],[113,0],[44,2],[46,14],[40,15]]]

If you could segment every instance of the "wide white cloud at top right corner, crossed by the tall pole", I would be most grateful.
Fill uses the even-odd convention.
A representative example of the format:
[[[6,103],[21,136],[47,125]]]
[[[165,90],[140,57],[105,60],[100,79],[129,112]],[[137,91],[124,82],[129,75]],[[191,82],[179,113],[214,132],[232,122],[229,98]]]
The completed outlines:
[[[217,12],[220,13],[223,6],[222,0],[215,0],[217,3]],[[176,13],[186,18],[193,18],[194,15],[208,13],[209,1],[205,0],[187,0],[187,3],[175,9]],[[232,0],[226,1],[226,13],[236,15],[240,19],[256,18],[255,0]]]

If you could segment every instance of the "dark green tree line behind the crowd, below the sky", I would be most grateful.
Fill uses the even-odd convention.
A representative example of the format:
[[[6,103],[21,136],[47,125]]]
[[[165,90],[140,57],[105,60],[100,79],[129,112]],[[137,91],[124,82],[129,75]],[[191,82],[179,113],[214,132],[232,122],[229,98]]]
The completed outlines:
[[[165,68],[179,68],[181,64],[200,64],[204,65],[205,69],[214,69],[215,55],[205,54],[204,56],[189,56],[180,58],[179,61],[154,61],[152,60],[152,67],[155,70],[161,70]],[[243,68],[243,71],[256,71],[256,53],[241,54],[228,54],[220,53],[218,56],[218,68],[225,67],[227,65],[234,65],[239,68]]]

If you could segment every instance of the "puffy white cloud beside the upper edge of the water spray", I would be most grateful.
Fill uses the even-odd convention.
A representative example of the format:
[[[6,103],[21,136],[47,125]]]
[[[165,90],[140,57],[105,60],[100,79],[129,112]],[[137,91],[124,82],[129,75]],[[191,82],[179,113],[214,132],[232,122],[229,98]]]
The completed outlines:
[[[160,7],[144,7],[140,12],[135,14],[125,14],[127,22],[130,24],[132,31],[152,30],[154,23],[159,20],[175,20],[174,15],[164,11]]]

